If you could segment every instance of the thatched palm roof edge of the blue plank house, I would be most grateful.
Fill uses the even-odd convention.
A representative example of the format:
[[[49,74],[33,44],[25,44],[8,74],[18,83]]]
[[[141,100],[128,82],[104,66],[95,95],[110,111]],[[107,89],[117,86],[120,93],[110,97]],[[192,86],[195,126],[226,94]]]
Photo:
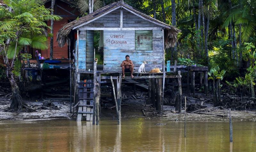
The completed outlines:
[[[109,10],[114,10],[117,7],[123,7],[124,9],[129,9],[132,12],[139,14],[140,16],[144,17],[144,19],[147,19],[149,22],[153,22],[155,24],[158,24],[162,27],[164,27],[164,44],[165,44],[165,48],[169,48],[171,46],[175,45],[175,42],[177,41],[177,34],[180,32],[179,29],[177,29],[174,26],[165,24],[153,17],[150,17],[144,13],[142,13],[141,11],[133,8],[132,6],[124,3],[123,0],[115,2],[115,3],[111,3],[103,8],[101,8],[100,10],[96,10],[84,17],[80,17],[77,20],[74,20],[66,25],[64,25],[57,33],[57,41],[60,47],[64,46],[65,42],[68,40],[68,35],[70,34],[70,32],[76,28],[78,28],[79,26],[81,26],[82,24],[96,18],[99,17],[100,15],[108,12]]]

